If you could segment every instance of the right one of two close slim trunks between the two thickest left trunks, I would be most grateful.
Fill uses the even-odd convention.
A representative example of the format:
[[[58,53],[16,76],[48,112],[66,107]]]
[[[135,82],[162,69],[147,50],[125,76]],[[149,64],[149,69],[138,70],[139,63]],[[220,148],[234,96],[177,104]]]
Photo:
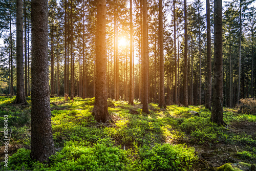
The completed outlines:
[[[74,100],[74,56],[73,56],[73,0],[71,0],[71,12],[70,12],[70,20],[71,20],[71,45],[70,45],[70,99]]]

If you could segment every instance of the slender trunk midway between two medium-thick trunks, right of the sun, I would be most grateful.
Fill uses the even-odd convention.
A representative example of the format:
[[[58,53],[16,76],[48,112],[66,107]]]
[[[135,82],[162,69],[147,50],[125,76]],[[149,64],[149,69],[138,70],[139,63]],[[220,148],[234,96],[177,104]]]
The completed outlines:
[[[178,104],[175,0],[174,0],[174,60],[175,60],[175,70],[174,70],[174,72],[175,72],[174,101],[175,101],[175,104]]]

